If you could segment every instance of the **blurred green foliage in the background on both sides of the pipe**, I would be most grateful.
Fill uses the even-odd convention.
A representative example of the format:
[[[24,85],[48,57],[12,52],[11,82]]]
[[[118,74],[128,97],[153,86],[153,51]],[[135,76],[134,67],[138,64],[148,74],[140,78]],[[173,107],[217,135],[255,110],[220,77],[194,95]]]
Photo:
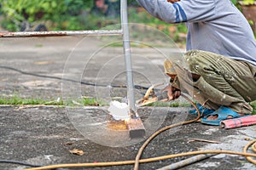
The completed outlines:
[[[105,0],[107,3],[108,1],[110,0]],[[231,1],[238,4],[237,0]],[[119,17],[113,19],[104,14],[92,13],[95,9],[94,2],[95,0],[0,0],[0,14],[3,16],[1,26],[8,31],[20,31],[20,27],[26,20],[31,27],[44,24],[48,30],[76,31],[97,30],[120,23]],[[181,33],[187,31],[184,24],[166,24],[152,17],[146,11],[138,11],[137,8],[140,6],[136,0],[127,0],[127,2],[130,22],[157,27],[174,38],[174,41],[183,41],[179,37]],[[174,29],[173,26],[175,26]]]

